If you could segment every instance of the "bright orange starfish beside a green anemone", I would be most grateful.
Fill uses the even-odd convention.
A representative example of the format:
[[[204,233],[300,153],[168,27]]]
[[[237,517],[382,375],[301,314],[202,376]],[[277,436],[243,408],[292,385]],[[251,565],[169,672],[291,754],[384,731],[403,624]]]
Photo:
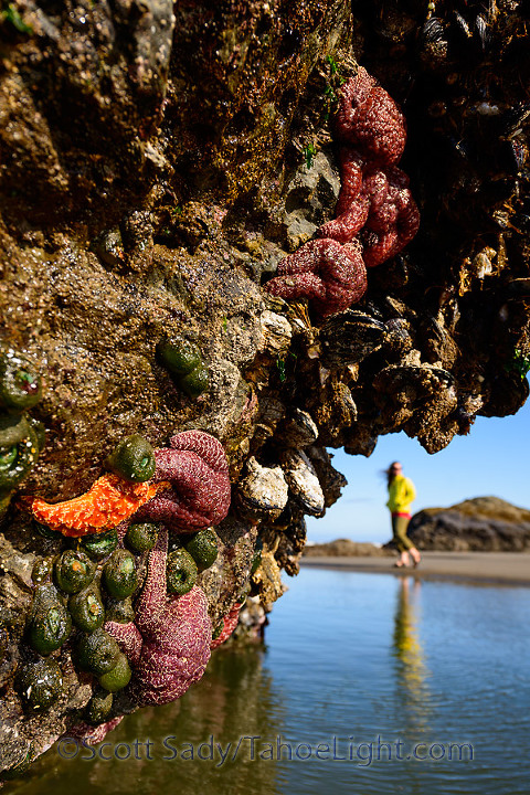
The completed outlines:
[[[80,538],[112,530],[169,486],[166,480],[134,484],[117,475],[103,475],[81,497],[55,505],[35,497],[30,507],[38,521],[49,524],[63,536]]]

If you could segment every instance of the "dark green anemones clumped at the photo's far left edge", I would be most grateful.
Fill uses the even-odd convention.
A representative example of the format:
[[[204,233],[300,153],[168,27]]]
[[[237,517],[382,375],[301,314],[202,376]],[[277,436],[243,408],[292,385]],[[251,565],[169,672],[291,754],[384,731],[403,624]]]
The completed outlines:
[[[41,395],[34,365],[12,348],[0,351],[0,516],[44,446],[44,426],[28,414]]]

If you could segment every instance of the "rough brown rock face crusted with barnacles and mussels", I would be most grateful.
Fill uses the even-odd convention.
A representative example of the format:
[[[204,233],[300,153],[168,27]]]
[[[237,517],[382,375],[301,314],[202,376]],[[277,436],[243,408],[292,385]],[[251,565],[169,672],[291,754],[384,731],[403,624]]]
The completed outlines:
[[[131,434],[158,449],[183,431],[215,437],[232,502],[198,583],[222,627],[248,589],[268,611],[280,570],[297,572],[304,516],[344,484],[327,447],[370,455],[379,435],[404,430],[434,453],[477,414],[524,402],[528,8],[425,9],[2,3],[0,335],[31,393],[14,412],[2,399],[1,468],[25,455],[23,477],[0,483],[3,768],[138,703],[125,688],[102,707],[109,690],[80,667],[78,629],[45,654],[29,642],[39,582],[54,591],[59,632],[66,595],[49,563],[71,542],[44,537],[24,498],[86,492]],[[406,118],[400,169],[421,224],[369,268],[352,308],[322,319],[311,300],[263,287],[333,218],[333,118],[359,63]],[[144,602],[147,556],[137,549],[131,563]],[[97,583],[106,559],[95,560]],[[131,605],[105,598],[131,623]],[[52,696],[35,707],[20,677],[42,666]]]

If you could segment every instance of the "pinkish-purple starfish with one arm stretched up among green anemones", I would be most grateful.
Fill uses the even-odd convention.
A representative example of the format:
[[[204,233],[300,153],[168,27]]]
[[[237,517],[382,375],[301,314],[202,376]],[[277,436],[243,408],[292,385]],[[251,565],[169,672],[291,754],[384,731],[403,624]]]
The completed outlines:
[[[162,528],[149,553],[136,622],[105,624],[135,669],[131,691],[140,704],[162,704],[180,698],[202,677],[210,659],[212,625],[204,592],[194,585],[183,596],[168,598],[167,556],[168,531]]]

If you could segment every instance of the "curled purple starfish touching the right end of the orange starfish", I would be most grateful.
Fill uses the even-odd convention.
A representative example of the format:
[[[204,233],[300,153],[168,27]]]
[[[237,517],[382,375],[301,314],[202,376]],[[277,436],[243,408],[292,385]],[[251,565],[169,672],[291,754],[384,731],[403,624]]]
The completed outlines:
[[[229,511],[231,496],[223,446],[202,431],[179,433],[170,445],[155,451],[153,480],[169,480],[172,488],[146,502],[135,521],[161,521],[180,533],[218,524]]]

